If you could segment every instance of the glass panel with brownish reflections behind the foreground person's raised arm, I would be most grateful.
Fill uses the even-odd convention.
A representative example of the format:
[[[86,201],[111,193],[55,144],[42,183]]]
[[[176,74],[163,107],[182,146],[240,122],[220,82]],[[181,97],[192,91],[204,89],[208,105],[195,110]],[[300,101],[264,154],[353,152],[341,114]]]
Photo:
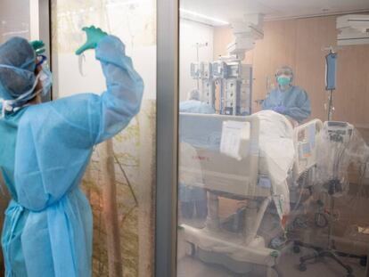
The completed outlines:
[[[94,151],[84,190],[94,216],[94,276],[150,276],[156,106],[156,1],[52,1],[53,97],[105,90],[94,51],[78,60],[94,25],[126,45],[145,86],[141,112],[112,142]],[[111,167],[113,165],[113,167]]]

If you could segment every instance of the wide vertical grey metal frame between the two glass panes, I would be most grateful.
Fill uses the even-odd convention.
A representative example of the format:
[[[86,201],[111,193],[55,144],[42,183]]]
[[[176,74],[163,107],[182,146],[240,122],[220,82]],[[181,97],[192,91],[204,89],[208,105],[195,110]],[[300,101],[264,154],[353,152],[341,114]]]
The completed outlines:
[[[155,276],[176,276],[179,0],[157,0]]]

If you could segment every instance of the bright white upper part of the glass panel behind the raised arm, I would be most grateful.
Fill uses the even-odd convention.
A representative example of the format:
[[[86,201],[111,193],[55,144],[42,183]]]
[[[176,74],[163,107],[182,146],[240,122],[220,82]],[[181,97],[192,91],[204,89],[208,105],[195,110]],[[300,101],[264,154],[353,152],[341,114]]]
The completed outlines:
[[[1,1],[1,0],[0,0]],[[95,25],[119,37],[126,45],[136,71],[143,77],[143,99],[156,99],[156,31],[155,1],[140,0],[137,4],[116,1],[116,4],[92,5],[68,0],[55,6],[53,29],[53,99],[79,93],[100,94],[106,89],[100,62],[94,51],[86,51],[81,75],[76,49],[86,41],[84,26]]]

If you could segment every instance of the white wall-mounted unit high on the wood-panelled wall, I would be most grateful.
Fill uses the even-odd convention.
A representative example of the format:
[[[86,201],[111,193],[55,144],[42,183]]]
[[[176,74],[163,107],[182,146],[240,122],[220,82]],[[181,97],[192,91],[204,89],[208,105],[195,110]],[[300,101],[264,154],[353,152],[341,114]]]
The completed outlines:
[[[337,45],[369,44],[369,14],[348,14],[337,18]]]

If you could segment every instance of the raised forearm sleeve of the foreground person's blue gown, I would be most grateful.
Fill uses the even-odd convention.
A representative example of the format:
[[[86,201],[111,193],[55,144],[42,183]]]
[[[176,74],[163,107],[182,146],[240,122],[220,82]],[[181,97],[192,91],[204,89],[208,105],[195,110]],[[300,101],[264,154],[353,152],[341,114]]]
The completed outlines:
[[[93,143],[102,143],[118,134],[140,110],[143,79],[126,56],[118,37],[104,37],[96,47],[107,91],[88,104]]]

